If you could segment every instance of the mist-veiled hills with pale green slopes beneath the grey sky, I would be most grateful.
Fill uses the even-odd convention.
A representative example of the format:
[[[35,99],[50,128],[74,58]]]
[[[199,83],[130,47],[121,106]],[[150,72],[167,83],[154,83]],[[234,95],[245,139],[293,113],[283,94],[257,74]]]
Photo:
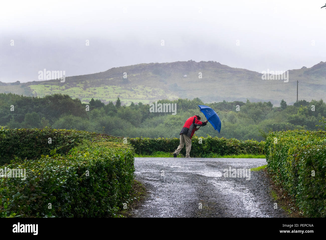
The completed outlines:
[[[262,73],[232,68],[216,61],[189,60],[111,68],[105,72],[66,77],[63,83],[60,79],[27,83],[0,82],[0,92],[34,96],[62,93],[79,98],[82,102],[94,98],[104,103],[114,102],[119,97],[122,104],[127,105],[131,102],[147,104],[160,99],[196,97],[204,103],[223,100],[245,102],[249,99],[251,102],[271,101],[278,105],[282,99],[288,104],[296,101],[297,81],[299,100],[324,99],[326,62],[311,68],[289,70],[288,82],[262,80]]]

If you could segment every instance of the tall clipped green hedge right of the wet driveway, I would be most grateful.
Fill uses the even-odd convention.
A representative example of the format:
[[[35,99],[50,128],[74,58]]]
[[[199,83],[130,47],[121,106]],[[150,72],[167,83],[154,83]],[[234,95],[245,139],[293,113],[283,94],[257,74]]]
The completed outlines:
[[[275,142],[277,139],[277,143]],[[266,138],[267,170],[301,214],[326,216],[326,132],[293,130]],[[312,176],[312,170],[315,176]]]

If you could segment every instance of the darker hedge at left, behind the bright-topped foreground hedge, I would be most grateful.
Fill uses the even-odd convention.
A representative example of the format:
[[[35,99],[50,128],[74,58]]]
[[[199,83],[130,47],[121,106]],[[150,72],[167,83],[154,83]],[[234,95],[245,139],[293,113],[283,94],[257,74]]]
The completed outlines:
[[[48,143],[51,137],[52,143]],[[84,139],[99,140],[101,138],[118,139],[116,137],[90,133],[86,131],[66,129],[0,129],[0,165],[10,163],[15,157],[36,159],[41,154],[47,155],[54,149],[57,153],[67,153]]]

